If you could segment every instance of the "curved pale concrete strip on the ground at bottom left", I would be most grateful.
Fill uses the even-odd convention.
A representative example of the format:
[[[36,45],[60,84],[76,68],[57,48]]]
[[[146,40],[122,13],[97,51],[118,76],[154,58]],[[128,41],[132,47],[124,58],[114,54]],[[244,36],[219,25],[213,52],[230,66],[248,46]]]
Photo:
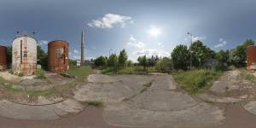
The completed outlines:
[[[7,100],[0,101],[0,116],[9,119],[60,119],[68,114],[79,113],[83,109],[82,104],[72,99],[44,106],[24,105]]]

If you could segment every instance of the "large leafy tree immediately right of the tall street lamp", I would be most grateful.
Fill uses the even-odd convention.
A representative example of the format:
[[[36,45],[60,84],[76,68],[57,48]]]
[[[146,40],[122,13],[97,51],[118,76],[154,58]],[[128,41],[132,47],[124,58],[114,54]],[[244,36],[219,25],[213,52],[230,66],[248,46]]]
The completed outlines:
[[[192,54],[192,65],[194,67],[201,67],[208,58],[213,58],[215,55],[212,49],[207,48],[199,40],[190,46],[190,51]]]

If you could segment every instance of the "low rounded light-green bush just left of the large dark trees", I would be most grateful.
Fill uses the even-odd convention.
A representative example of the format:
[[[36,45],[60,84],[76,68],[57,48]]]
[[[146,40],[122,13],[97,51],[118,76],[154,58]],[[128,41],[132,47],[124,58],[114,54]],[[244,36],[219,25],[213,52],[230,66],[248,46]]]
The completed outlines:
[[[164,57],[163,59],[160,59],[157,61],[155,68],[158,71],[162,72],[170,72],[172,70],[172,60],[170,58]]]

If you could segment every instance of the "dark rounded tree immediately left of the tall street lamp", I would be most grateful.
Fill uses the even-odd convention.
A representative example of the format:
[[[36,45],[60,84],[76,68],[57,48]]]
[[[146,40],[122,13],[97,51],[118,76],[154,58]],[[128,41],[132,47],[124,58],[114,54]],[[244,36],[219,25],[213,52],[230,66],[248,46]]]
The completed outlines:
[[[187,70],[189,67],[189,49],[186,45],[177,45],[172,50],[172,62],[175,69]]]

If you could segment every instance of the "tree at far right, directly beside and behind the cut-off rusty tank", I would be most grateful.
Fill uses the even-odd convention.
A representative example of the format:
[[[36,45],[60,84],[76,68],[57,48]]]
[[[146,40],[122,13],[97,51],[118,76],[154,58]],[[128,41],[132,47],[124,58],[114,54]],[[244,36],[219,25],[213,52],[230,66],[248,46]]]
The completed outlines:
[[[246,49],[247,46],[253,45],[254,41],[252,39],[247,39],[245,43],[238,45],[236,49],[230,51],[230,61],[236,67],[246,66]]]

